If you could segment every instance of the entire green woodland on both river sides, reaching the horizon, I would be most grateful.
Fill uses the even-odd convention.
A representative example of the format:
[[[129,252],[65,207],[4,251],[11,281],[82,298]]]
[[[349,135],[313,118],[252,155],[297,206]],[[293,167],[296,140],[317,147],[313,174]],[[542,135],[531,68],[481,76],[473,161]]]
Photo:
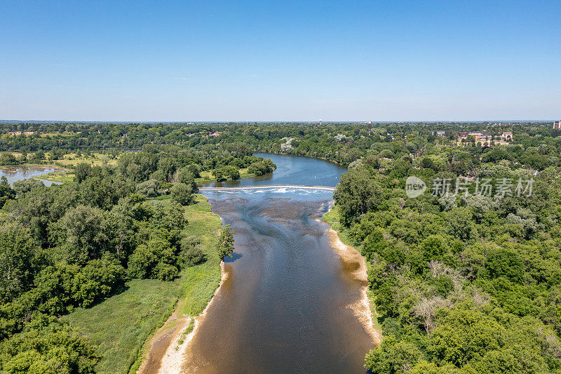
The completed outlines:
[[[95,348],[57,317],[127,279],[170,281],[204,261],[181,235],[201,174],[269,173],[271,161],[252,154],[281,152],[349,167],[334,200],[367,259],[384,333],[366,356],[373,373],[561,373],[561,131],[550,123],[1,128],[4,165],[94,151],[115,162],[79,163],[52,187],[0,182],[0,371],[93,371]],[[489,140],[461,135],[478,132]],[[411,176],[421,196],[407,196]]]

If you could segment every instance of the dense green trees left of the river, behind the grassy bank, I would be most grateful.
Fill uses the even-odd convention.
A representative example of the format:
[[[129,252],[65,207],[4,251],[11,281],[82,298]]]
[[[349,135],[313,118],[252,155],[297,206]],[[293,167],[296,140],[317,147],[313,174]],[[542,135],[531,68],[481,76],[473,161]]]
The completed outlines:
[[[185,267],[205,262],[199,239],[182,236],[189,225],[183,206],[194,203],[198,173],[217,165],[274,168],[243,145],[224,145],[208,157],[147,145],[112,166],[79,163],[74,180],[62,185],[33,179],[9,185],[4,178],[0,371],[93,372],[95,347],[57,317],[119,293],[128,279],[173,281]],[[221,257],[233,246],[228,227],[224,235],[217,242]]]

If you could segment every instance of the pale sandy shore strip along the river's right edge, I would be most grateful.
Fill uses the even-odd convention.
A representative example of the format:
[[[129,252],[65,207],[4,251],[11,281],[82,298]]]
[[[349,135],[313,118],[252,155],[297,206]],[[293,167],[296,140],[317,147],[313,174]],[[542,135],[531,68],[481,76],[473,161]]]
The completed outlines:
[[[344,230],[339,221],[339,209],[337,206],[330,206],[330,210],[323,215],[323,221],[330,225],[327,234],[330,237],[330,244],[334,251],[342,258],[351,269],[351,274],[363,283],[360,288],[360,300],[357,300],[351,309],[363,323],[363,326],[370,335],[372,342],[381,345],[381,326],[378,323],[376,307],[372,298],[372,292],[368,288],[368,265],[360,251],[352,246],[349,235]]]

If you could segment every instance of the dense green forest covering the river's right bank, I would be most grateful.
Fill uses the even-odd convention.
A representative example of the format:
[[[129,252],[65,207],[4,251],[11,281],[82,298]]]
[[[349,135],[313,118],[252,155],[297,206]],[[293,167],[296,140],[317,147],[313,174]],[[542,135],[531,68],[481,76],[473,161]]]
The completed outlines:
[[[538,174],[531,163],[517,163],[528,152],[513,152],[518,146],[503,148],[498,161],[479,147],[447,149],[414,139],[426,147],[423,156],[371,149],[334,193],[341,221],[369,264],[384,333],[366,368],[561,372],[557,161]],[[428,186],[414,199],[405,193],[412,175]],[[464,188],[459,175],[475,179]],[[476,194],[477,178],[511,185],[504,194]],[[450,180],[450,194],[434,196],[434,180]],[[517,180],[532,180],[531,196],[527,189],[518,196]]]

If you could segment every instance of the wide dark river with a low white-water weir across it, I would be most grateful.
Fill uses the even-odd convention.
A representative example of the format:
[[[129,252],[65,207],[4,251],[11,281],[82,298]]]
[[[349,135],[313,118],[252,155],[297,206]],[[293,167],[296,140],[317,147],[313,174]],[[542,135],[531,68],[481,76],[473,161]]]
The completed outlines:
[[[334,187],[345,171],[319,159],[257,156],[270,157],[276,171],[213,185]],[[235,253],[187,347],[187,372],[364,373],[374,342],[351,306],[365,281],[334,252],[320,221],[332,191],[268,187],[203,194],[224,225],[232,225]]]

